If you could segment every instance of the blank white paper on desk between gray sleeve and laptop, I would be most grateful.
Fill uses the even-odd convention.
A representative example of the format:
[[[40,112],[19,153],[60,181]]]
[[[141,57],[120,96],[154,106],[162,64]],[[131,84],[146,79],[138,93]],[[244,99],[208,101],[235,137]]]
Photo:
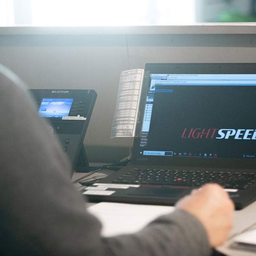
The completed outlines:
[[[102,223],[102,236],[137,232],[157,217],[174,211],[173,206],[101,202],[88,208]]]

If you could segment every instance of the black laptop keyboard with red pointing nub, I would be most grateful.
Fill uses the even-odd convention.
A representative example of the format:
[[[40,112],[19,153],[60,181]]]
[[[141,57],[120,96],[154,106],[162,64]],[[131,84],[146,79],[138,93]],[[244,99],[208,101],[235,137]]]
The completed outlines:
[[[217,183],[226,189],[247,189],[256,183],[256,174],[134,169],[113,180],[113,183],[194,187],[200,187],[206,183]]]

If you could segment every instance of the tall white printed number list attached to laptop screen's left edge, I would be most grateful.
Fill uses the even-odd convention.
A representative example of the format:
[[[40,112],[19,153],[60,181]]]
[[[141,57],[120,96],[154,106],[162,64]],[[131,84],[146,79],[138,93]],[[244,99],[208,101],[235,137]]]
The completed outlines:
[[[121,73],[111,138],[134,137],[144,69]]]

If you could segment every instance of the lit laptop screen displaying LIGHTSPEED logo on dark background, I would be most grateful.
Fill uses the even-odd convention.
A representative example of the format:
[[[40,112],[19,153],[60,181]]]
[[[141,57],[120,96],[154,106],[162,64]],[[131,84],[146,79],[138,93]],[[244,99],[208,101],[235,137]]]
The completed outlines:
[[[256,158],[256,74],[150,74],[142,157]]]

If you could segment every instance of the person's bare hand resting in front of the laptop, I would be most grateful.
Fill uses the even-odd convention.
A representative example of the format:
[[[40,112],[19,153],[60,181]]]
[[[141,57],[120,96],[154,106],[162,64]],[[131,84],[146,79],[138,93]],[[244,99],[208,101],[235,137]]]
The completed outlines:
[[[234,203],[223,187],[206,184],[179,200],[176,208],[189,211],[204,225],[211,247],[222,245],[232,228]]]

